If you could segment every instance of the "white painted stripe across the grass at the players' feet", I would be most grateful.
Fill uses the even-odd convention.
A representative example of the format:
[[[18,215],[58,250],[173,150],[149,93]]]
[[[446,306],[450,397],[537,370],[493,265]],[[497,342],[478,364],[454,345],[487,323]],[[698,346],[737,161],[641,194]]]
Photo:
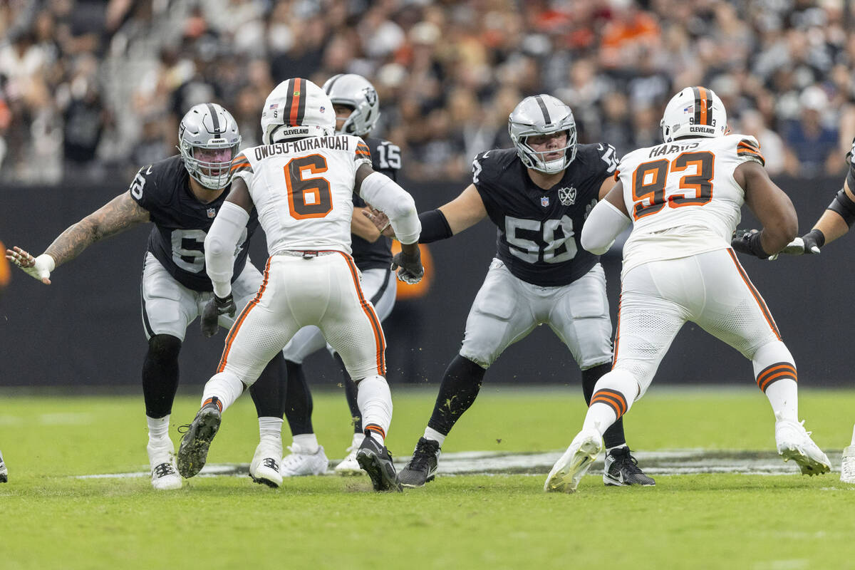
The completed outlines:
[[[444,453],[439,456],[439,475],[475,474],[543,474],[549,473],[552,465],[563,451],[545,453],[508,453],[501,451],[463,451]],[[662,450],[638,451],[633,455],[645,473],[649,475],[684,475],[695,473],[741,473],[746,475],[787,475],[799,473],[794,461],[784,462],[775,452],[728,451],[728,450]],[[840,472],[840,450],[829,450],[832,457],[832,472]],[[340,461],[340,460],[339,460]],[[339,461],[331,461],[333,467]],[[395,468],[404,468],[409,457],[395,462]],[[594,461],[591,473],[603,469],[603,461]],[[203,467],[201,477],[220,475],[245,477],[250,472],[249,463],[217,463]],[[148,471],[133,473],[102,473],[76,475],[75,479],[130,479],[150,477]],[[334,476],[330,470],[327,475]]]

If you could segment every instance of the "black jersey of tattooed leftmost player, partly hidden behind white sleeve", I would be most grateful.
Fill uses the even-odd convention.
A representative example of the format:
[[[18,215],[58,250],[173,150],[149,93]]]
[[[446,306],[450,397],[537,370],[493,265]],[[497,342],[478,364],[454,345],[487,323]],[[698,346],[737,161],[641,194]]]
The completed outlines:
[[[131,196],[148,210],[154,227],[149,234],[148,250],[170,275],[193,291],[212,291],[205,273],[205,237],[216,213],[226,201],[228,190],[211,203],[201,203],[190,190],[190,174],[181,156],[171,156],[139,169],[130,188]],[[246,265],[248,245],[258,227],[253,209],[250,221],[238,242],[232,280],[238,279]]]

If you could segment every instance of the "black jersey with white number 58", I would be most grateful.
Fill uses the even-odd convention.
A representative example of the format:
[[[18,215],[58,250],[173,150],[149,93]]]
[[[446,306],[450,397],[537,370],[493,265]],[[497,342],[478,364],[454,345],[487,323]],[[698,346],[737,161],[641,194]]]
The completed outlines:
[[[498,227],[498,258],[510,273],[544,287],[567,285],[587,273],[598,256],[582,249],[582,224],[616,167],[610,144],[579,144],[561,181],[543,190],[528,177],[516,149],[475,156],[472,182]]]

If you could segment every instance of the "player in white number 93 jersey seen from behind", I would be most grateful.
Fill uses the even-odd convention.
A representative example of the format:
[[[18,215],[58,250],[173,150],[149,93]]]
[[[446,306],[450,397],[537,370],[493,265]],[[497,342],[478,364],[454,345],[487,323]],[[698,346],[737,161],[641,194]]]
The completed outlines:
[[[644,395],[687,320],[752,361],[784,461],[793,459],[808,475],[827,473],[828,457],[799,423],[793,356],[730,247],[746,203],[763,230],[740,250],[764,258],[781,251],[798,229],[793,203],[769,179],[757,140],[728,134],[724,106],[711,90],[677,93],[661,126],[664,144],[623,157],[616,185],[582,228],[582,247],[603,253],[634,224],[623,248],[613,367],[598,380],[582,430],[544,490],[575,491],[602,449],[604,430]]]

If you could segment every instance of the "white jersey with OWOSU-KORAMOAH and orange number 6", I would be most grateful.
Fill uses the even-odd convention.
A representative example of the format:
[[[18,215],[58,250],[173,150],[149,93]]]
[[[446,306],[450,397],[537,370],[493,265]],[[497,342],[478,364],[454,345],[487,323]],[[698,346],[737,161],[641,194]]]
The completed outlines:
[[[271,256],[281,250],[349,254],[353,185],[363,164],[371,166],[363,139],[337,135],[251,147],[232,170],[250,190]]]

